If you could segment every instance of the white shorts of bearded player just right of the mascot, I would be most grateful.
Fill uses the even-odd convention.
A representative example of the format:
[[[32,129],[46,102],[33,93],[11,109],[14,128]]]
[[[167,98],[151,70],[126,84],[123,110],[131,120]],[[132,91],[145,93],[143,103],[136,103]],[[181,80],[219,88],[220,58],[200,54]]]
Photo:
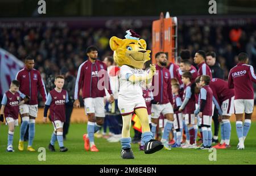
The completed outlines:
[[[168,102],[167,104],[160,105],[152,104],[151,118],[159,118],[160,113],[162,113],[163,115],[174,114],[174,109],[172,108],[171,103]]]

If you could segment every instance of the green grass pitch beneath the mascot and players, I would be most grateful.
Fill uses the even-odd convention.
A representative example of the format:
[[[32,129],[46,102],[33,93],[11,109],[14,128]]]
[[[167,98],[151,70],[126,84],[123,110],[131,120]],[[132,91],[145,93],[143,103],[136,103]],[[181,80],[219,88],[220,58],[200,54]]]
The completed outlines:
[[[249,135],[245,140],[245,150],[238,151],[236,149],[238,139],[236,135],[235,123],[232,123],[231,149],[217,150],[217,161],[209,161],[208,150],[198,151],[196,149],[173,148],[171,151],[162,149],[154,154],[144,154],[139,151],[138,144],[132,144],[134,152],[134,160],[123,160],[120,156],[120,143],[108,143],[106,139],[95,139],[96,145],[100,152],[84,151],[84,143],[82,135],[86,132],[85,124],[71,124],[67,140],[64,145],[69,151],[65,153],[59,152],[59,146],[55,143],[56,152],[49,152],[47,146],[51,138],[53,127],[50,124],[36,124],[36,134],[33,147],[46,148],[46,161],[39,161],[40,152],[18,151],[19,127],[16,127],[14,134],[14,150],[15,152],[6,152],[7,145],[7,126],[0,125],[0,165],[3,164],[256,164],[256,122],[251,124]],[[133,136],[133,130],[131,135]],[[24,149],[27,142],[24,143]]]

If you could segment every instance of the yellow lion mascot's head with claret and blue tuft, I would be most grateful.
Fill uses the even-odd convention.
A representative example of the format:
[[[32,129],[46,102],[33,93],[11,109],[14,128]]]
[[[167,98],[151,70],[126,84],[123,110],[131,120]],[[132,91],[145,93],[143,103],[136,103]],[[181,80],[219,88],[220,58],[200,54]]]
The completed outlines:
[[[111,37],[110,48],[114,51],[114,61],[118,66],[128,65],[135,68],[143,68],[145,62],[150,60],[150,50],[146,50],[147,44],[132,30],[126,31],[125,39]]]

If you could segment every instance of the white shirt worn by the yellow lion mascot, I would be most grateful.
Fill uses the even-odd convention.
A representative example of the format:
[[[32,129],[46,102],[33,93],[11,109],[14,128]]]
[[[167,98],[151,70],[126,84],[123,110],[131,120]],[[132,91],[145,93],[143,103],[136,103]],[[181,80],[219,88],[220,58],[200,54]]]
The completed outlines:
[[[137,83],[131,83],[129,77],[135,76],[146,76],[147,73],[139,68],[132,68],[127,65],[123,65],[120,68],[120,88],[118,98],[125,100],[131,100],[134,98],[142,97],[142,81]]]

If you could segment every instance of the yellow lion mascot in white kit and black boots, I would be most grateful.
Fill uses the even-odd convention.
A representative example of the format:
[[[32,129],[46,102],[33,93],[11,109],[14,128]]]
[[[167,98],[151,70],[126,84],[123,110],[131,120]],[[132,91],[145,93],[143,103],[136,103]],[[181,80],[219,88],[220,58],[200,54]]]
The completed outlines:
[[[150,60],[150,50],[146,50],[147,44],[139,35],[129,30],[125,39],[110,38],[110,48],[114,51],[114,61],[120,67],[120,88],[118,95],[118,108],[122,114],[123,128],[121,138],[121,157],[134,159],[131,150],[130,126],[131,117],[135,113],[142,124],[142,142],[144,153],[151,154],[163,148],[159,140],[154,140],[148,123],[146,104],[142,95],[142,84],[151,84],[156,68],[150,65],[150,71],[142,70],[146,61]]]

